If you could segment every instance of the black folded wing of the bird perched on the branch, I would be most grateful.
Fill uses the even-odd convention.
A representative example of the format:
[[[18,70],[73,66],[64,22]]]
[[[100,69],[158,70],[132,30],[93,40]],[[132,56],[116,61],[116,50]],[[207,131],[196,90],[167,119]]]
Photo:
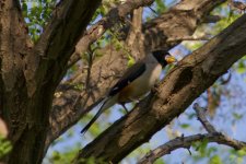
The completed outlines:
[[[114,96],[115,94],[119,93],[119,91],[126,87],[130,82],[140,77],[145,71],[145,69],[147,67],[143,61],[134,63],[124,73],[124,75],[119,79],[119,81],[112,87],[108,95]]]

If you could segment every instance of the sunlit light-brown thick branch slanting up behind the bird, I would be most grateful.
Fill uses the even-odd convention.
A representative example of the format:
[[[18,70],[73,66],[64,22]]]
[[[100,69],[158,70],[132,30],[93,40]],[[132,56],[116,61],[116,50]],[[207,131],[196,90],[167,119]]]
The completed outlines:
[[[161,17],[154,19],[143,25],[145,42],[144,45],[152,43],[150,45],[152,45],[151,47],[154,49],[169,49],[173,46],[176,46],[179,40],[173,43],[165,43],[163,40],[171,37],[173,38],[173,36],[176,35],[188,36],[192,34],[199,23],[202,22],[201,20],[203,16],[206,16],[212,9],[222,2],[224,1],[196,0],[196,3],[194,3],[194,0],[181,1],[179,5],[183,4],[184,8],[179,7],[176,10],[171,10],[166,13],[163,13]],[[192,5],[190,3],[192,3]],[[187,5],[191,5],[192,8],[190,8],[190,10],[185,10],[185,7]],[[196,14],[197,11],[199,11],[199,14]],[[190,26],[190,24],[192,24],[190,22],[195,22],[194,26]],[[150,45],[148,45],[148,47]],[[150,48],[150,50],[152,48]],[[90,110],[94,106],[94,103],[96,104],[98,102],[97,99],[104,96],[107,90],[114,84],[115,80],[120,77],[121,72],[124,72],[124,69],[126,69],[127,56],[125,52],[118,51],[114,47],[108,46],[104,49],[101,49],[98,54],[103,54],[104,56],[95,61],[92,66],[93,73],[91,74],[91,90],[90,92],[82,91],[82,93],[77,93],[75,97],[81,96],[81,101],[77,103],[75,107],[72,105],[74,104],[74,98],[69,96],[69,90],[67,93],[56,97],[54,103],[54,114],[51,115],[52,117],[50,117],[50,140],[47,141],[47,145],[54,139],[59,137],[61,132],[74,125],[87,110]],[[116,74],[118,74],[118,77]],[[79,83],[83,85],[85,83],[85,77],[86,72],[80,72],[78,78],[75,78],[72,83]],[[74,93],[73,91],[71,92]]]

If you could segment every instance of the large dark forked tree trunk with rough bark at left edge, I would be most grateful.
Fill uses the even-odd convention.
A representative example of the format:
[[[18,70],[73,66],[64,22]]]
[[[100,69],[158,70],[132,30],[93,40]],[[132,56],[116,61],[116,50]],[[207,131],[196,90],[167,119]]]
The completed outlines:
[[[7,163],[42,163],[54,92],[99,2],[63,0],[33,46],[19,1],[0,1],[0,109],[13,143]]]

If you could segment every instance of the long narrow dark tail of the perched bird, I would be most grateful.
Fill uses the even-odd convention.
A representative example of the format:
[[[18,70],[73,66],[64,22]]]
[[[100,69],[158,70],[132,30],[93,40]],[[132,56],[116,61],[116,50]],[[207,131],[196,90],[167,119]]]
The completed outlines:
[[[103,99],[103,104],[96,115],[90,120],[90,122],[81,130],[81,133],[85,133],[89,128],[95,122],[99,115],[107,108],[112,107],[116,103],[116,97],[106,97]]]

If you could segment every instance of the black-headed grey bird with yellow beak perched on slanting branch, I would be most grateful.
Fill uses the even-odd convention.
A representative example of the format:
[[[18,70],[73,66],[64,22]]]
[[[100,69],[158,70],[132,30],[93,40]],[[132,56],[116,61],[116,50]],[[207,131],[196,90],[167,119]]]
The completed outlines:
[[[168,63],[176,62],[176,59],[166,50],[154,50],[128,68],[122,77],[109,90],[105,98],[102,101],[96,115],[81,130],[85,133],[99,115],[115,104],[120,104],[127,110],[125,104],[139,101],[160,80],[162,69]]]

